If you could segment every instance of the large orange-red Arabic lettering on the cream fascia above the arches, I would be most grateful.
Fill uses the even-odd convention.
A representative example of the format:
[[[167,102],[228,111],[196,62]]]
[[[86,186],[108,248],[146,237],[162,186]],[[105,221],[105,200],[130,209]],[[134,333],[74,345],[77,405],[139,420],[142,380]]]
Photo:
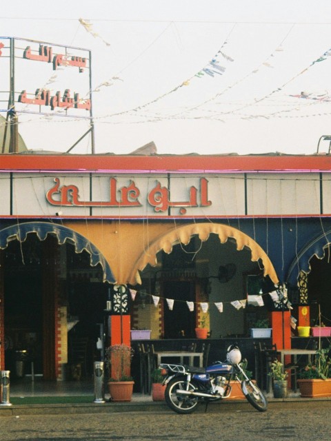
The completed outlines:
[[[51,205],[61,207],[141,207],[141,192],[134,181],[128,186],[117,189],[117,178],[110,178],[109,201],[81,201],[77,185],[61,185],[59,178],[54,178],[55,185],[46,193],[46,200]],[[208,180],[200,178],[199,189],[192,185],[188,189],[188,201],[170,201],[170,191],[157,185],[147,194],[147,202],[154,207],[154,212],[167,212],[170,207],[179,207],[179,213],[185,214],[190,207],[209,207]]]

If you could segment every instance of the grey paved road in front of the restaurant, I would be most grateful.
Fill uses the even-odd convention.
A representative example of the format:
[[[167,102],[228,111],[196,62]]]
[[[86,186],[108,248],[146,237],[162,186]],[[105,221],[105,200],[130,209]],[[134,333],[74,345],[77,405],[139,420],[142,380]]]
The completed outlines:
[[[0,417],[1,441],[330,441],[331,402],[300,407],[270,406],[265,413],[250,405],[201,407],[189,416],[168,409],[152,412],[61,414]]]

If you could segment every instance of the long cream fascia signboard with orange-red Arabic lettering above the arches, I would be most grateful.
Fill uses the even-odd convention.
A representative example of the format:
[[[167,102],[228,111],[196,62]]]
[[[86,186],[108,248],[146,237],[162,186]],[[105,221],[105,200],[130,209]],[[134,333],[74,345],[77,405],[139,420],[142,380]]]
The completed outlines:
[[[325,176],[324,176],[325,175]],[[323,174],[1,173],[0,216],[167,218],[331,213]],[[59,214],[60,213],[60,214]]]

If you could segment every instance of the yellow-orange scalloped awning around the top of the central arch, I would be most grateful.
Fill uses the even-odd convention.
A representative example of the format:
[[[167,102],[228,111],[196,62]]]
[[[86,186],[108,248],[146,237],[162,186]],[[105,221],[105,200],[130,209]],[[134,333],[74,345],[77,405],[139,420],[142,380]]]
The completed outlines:
[[[268,255],[263,251],[259,244],[255,242],[250,236],[241,232],[239,229],[230,227],[229,225],[223,225],[218,223],[198,223],[184,225],[179,228],[175,228],[170,232],[167,232],[157,237],[148,247],[148,249],[141,254],[137,263],[134,265],[132,271],[132,285],[141,283],[141,277],[139,271],[142,271],[146,265],[150,264],[155,266],[157,264],[157,253],[163,249],[167,254],[172,252],[172,247],[179,243],[187,245],[190,242],[190,238],[197,234],[203,242],[208,240],[211,233],[217,234],[221,243],[225,243],[228,238],[233,238],[237,242],[237,250],[241,251],[244,247],[248,247],[252,252],[252,262],[261,260],[263,263],[263,275],[269,276],[273,283],[278,283],[278,277],[274,266],[271,263]]]

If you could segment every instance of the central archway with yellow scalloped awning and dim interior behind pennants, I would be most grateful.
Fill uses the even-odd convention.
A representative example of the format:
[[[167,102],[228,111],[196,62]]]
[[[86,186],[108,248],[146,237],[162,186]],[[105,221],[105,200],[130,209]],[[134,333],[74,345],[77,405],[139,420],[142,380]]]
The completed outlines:
[[[221,224],[188,225],[165,234],[146,249],[141,267],[146,261],[145,269],[139,270],[142,284],[134,284],[139,300],[134,303],[132,321],[143,329],[150,320],[153,338],[194,338],[194,327],[202,322],[215,338],[247,334],[249,322],[268,314],[267,308],[247,308],[252,314],[246,314],[247,309],[237,311],[230,303],[247,298],[248,275],[265,280],[263,293],[278,282],[263,249],[239,230]],[[259,294],[260,289],[251,294]],[[159,296],[159,309],[144,292]],[[194,303],[190,311],[188,302]],[[203,302],[208,303],[207,314],[201,309]],[[225,302],[225,314],[219,314],[217,302]]]

